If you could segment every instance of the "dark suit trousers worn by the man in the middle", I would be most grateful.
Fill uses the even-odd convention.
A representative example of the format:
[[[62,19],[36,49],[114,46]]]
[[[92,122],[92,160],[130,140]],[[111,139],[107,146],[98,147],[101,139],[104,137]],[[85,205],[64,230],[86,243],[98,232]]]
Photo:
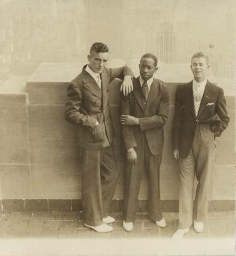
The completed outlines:
[[[148,174],[148,215],[151,220],[161,220],[160,211],[160,162],[162,155],[152,155],[146,142],[145,134],[142,143],[136,148],[137,162],[127,163],[124,174],[124,220],[133,222],[136,217],[136,203],[144,170]]]

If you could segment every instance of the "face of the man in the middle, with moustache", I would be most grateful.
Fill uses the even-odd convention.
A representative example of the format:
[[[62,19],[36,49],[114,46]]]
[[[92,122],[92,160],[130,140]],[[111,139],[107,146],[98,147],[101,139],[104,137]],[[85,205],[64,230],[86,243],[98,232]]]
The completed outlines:
[[[140,76],[144,80],[152,78],[156,72],[155,61],[152,58],[144,57],[140,61]]]

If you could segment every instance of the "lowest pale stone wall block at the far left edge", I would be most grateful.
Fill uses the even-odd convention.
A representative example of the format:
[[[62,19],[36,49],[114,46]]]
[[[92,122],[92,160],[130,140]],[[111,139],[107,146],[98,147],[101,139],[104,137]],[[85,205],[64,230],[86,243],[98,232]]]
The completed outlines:
[[[30,170],[28,165],[0,165],[3,199],[30,197]]]

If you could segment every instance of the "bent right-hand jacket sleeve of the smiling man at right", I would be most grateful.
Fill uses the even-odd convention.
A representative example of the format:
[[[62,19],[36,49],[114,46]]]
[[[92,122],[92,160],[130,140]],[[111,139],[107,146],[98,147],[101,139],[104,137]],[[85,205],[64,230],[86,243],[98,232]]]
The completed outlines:
[[[229,116],[226,109],[226,100],[222,88],[220,88],[220,91],[218,93],[218,99],[216,102],[216,113],[220,118],[220,128],[218,129],[218,132],[214,133],[214,136],[220,136],[220,134],[223,132],[223,130],[227,128],[229,124]]]

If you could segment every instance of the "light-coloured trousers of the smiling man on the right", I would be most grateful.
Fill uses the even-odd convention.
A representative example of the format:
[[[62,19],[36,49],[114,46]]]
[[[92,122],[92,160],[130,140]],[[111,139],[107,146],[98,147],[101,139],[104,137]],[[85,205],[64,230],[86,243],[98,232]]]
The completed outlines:
[[[180,159],[179,228],[189,228],[193,219],[204,222],[214,170],[214,134],[208,124],[197,124],[187,158]],[[194,200],[194,177],[198,180]]]

